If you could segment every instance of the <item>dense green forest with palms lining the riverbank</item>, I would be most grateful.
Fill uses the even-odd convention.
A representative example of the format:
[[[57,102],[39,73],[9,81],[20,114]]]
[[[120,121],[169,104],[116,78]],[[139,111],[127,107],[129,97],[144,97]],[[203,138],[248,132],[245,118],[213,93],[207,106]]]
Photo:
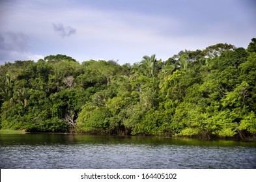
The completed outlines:
[[[0,78],[1,129],[256,138],[256,38],[132,65],[49,55]]]

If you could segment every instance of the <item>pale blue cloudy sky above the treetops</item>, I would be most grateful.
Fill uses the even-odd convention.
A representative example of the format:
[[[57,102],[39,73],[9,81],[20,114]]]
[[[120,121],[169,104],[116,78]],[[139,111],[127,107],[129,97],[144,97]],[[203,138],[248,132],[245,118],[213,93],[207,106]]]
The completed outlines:
[[[0,64],[57,54],[133,64],[253,37],[254,0],[0,0]]]

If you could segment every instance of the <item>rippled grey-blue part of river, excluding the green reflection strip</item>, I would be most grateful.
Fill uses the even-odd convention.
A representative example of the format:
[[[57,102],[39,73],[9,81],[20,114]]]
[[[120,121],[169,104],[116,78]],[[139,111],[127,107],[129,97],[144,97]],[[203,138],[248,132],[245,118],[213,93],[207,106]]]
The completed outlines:
[[[0,168],[256,168],[256,148],[39,142],[1,145],[0,159]]]

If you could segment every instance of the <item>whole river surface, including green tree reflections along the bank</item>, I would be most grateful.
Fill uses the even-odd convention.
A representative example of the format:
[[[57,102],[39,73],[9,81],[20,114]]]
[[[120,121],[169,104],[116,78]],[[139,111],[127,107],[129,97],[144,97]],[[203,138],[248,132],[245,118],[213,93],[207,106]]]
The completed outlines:
[[[0,168],[256,168],[256,142],[25,134],[0,135]]]

